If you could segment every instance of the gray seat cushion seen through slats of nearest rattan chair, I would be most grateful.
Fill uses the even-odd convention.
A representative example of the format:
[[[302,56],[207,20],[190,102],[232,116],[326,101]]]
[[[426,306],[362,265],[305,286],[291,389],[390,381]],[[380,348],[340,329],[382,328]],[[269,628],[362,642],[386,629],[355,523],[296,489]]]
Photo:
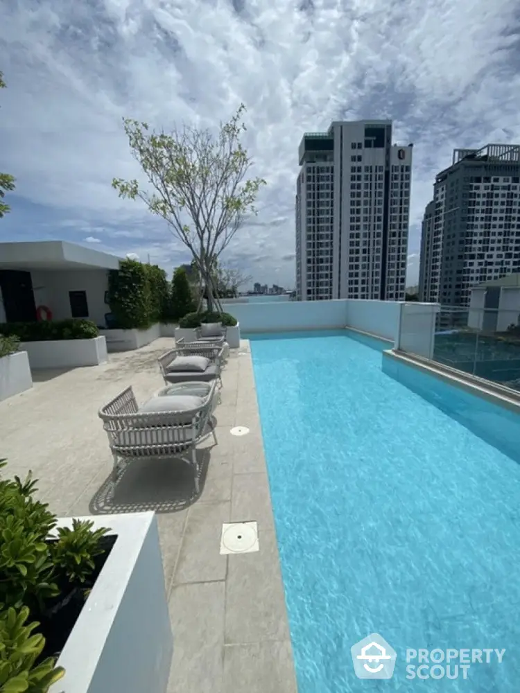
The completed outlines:
[[[191,426],[176,428],[128,428],[116,434],[112,441],[112,450],[127,457],[142,457],[143,448],[146,455],[173,455],[191,445],[193,429]],[[160,446],[154,448],[153,446]],[[139,450],[136,450],[138,447]]]

